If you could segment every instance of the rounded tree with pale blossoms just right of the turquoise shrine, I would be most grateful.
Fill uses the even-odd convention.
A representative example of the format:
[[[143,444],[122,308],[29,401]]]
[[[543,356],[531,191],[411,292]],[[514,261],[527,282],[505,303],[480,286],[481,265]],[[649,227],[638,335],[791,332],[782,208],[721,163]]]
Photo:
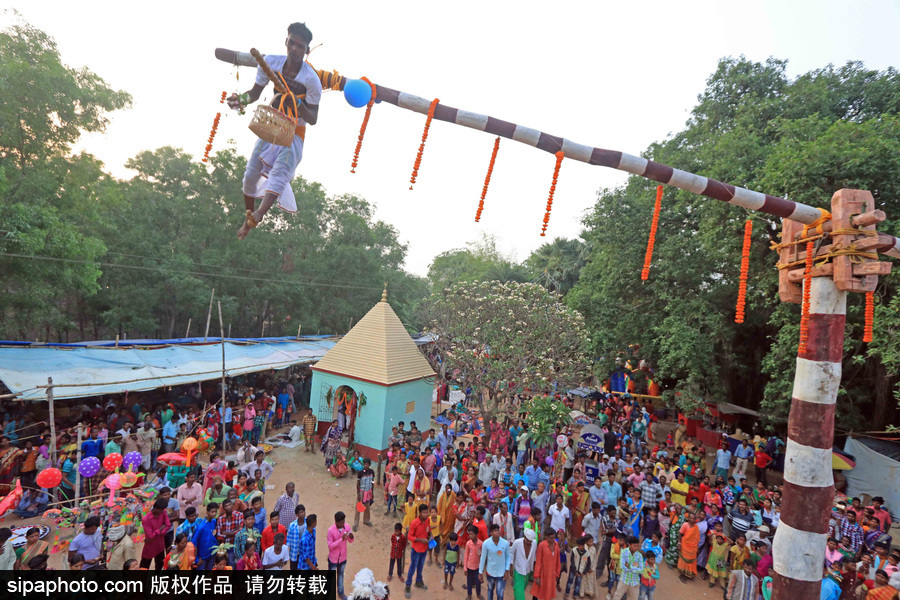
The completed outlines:
[[[435,369],[475,390],[485,417],[513,394],[564,391],[591,376],[584,318],[540,285],[457,283],[424,310],[437,337]]]

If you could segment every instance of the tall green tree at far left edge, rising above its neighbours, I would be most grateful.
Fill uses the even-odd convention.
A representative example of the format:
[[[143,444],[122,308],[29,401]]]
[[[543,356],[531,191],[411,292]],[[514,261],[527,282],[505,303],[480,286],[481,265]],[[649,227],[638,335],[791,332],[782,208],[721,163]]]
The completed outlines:
[[[131,99],[63,64],[56,43],[27,23],[0,32],[0,97],[0,335],[47,339],[97,291],[90,261],[104,252],[93,226],[109,178],[93,157],[70,156],[72,145]]]

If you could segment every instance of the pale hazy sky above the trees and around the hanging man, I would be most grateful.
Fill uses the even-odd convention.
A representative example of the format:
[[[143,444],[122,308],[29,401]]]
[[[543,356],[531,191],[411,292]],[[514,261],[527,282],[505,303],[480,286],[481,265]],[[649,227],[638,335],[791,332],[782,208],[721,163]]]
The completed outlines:
[[[213,117],[225,108],[221,92],[246,91],[255,75],[248,68],[236,73],[214,49],[283,53],[293,21],[306,22],[314,47],[322,44],[309,59],[316,68],[631,154],[683,128],[722,57],[787,59],[791,76],[848,60],[876,69],[900,62],[892,41],[900,29],[897,0],[14,0],[8,7],[53,36],[66,64],[87,66],[132,94],[131,109],[113,113],[104,133],[79,142],[122,178],[133,176],[125,161],[145,149],[180,147],[199,160]],[[10,18],[0,16],[0,24]],[[271,86],[263,95],[270,97]],[[372,202],[376,218],[408,245],[406,269],[419,275],[436,255],[484,235],[518,261],[554,237],[575,237],[597,191],[625,182],[625,173],[564,161],[547,237],[540,237],[555,159],[504,139],[475,223],[492,136],[435,121],[410,191],[425,117],[377,105],[351,174],[363,113],[340,92],[324,94],[298,174],[329,194]],[[215,147],[230,142],[249,155],[249,121],[249,113],[225,109]],[[237,219],[223,236],[235,235]],[[245,243],[258,235],[264,233]]]

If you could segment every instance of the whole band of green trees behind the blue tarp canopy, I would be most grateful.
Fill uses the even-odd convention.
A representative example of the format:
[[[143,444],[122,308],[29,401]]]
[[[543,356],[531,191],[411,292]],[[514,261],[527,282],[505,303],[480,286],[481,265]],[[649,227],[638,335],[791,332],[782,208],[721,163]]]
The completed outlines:
[[[202,335],[213,289],[233,336],[295,335],[301,325],[340,334],[385,282],[398,316],[418,329],[427,283],[404,272],[406,246],[366,200],[297,178],[298,214],[272,211],[241,242],[246,163],[233,148],[209,165],[176,148],[146,150],[126,164],[127,181],[73,156],[80,133],[102,130],[130,98],[65,66],[28,25],[0,34],[0,93],[3,338],[176,337],[189,320]]]

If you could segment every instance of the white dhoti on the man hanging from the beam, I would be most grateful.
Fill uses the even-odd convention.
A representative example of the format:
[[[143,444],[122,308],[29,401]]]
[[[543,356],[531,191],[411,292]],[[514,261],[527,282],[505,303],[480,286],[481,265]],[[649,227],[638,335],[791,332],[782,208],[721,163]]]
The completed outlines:
[[[297,200],[291,180],[303,158],[303,140],[294,136],[290,147],[257,140],[247,160],[243,190],[251,198],[262,198],[266,192],[278,194],[278,208],[297,212]]]

